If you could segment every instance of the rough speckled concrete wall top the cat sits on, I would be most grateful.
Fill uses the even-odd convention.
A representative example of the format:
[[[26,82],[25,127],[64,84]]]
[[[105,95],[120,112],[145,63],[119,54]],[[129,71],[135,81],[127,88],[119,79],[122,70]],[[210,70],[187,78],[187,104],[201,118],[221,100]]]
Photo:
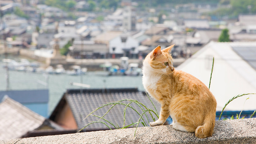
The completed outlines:
[[[2,140],[4,144],[85,144],[85,143],[256,143],[256,118],[216,121],[214,133],[208,138],[197,138],[194,133],[174,130],[171,125],[93,131],[76,134],[52,135],[23,139]]]

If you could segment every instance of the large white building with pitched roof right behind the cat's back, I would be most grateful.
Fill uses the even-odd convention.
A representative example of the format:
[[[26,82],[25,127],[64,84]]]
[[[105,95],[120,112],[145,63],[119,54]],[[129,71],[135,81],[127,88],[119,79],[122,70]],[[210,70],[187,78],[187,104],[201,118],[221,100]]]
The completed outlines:
[[[234,96],[256,92],[256,42],[210,42],[176,69],[194,75],[208,87],[213,57],[210,91],[220,112]],[[231,115],[241,110],[251,114],[256,109],[255,101],[254,95],[246,95],[230,102],[225,111],[233,111]]]

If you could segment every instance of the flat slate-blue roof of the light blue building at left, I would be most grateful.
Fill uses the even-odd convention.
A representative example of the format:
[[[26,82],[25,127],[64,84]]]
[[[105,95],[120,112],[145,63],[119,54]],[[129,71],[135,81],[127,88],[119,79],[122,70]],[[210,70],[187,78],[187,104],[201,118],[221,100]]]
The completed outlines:
[[[10,90],[0,91],[0,101],[8,95],[19,103],[45,103],[49,101],[49,90]]]

